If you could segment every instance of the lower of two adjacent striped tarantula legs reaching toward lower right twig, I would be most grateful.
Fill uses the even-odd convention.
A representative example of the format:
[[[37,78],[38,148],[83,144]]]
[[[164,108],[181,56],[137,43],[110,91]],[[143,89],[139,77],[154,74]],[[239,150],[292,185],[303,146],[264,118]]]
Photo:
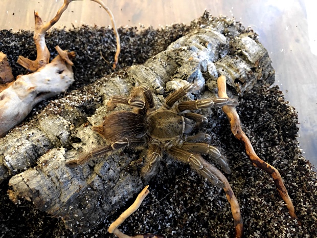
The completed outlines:
[[[176,146],[171,146],[167,149],[167,152],[172,158],[185,164],[189,163],[193,169],[195,169],[203,177],[207,178],[213,185],[219,188],[222,188],[224,186],[224,184],[214,174],[213,168],[205,168],[201,164],[201,160],[203,159],[200,155],[191,154],[190,152]]]

